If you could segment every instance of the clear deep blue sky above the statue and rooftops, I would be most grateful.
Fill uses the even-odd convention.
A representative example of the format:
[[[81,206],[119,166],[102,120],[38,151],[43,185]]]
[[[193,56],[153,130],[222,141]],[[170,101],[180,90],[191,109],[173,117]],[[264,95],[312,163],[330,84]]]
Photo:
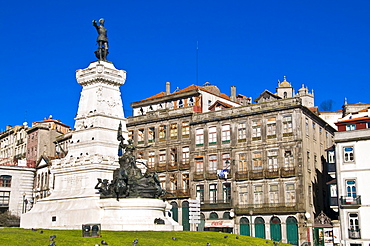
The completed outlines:
[[[92,20],[105,18],[110,54],[127,71],[130,103],[209,81],[257,98],[287,76],[315,104],[369,100],[370,1],[4,1],[0,130],[53,115],[73,127],[77,69],[95,61]],[[196,43],[199,42],[198,78]],[[198,81],[198,82],[197,82]]]

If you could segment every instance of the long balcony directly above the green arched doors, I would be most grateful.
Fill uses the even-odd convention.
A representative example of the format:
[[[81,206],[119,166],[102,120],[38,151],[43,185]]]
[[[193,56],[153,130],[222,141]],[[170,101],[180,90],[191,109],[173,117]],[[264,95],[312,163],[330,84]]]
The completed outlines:
[[[239,204],[235,206],[236,214],[249,214],[250,211],[253,211],[255,214],[299,212],[296,203]]]

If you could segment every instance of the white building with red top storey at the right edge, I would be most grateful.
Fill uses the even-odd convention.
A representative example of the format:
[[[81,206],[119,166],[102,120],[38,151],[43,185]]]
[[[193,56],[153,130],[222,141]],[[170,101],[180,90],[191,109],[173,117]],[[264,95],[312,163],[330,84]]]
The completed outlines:
[[[366,232],[370,227],[370,194],[367,189],[370,112],[369,109],[358,110],[339,120],[336,123],[338,132],[335,133],[341,243],[346,246],[370,243]]]

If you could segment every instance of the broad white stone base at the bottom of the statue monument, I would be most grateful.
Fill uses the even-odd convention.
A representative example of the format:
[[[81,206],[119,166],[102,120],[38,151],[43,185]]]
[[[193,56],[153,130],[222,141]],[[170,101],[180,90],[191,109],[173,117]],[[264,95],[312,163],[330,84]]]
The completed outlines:
[[[170,206],[150,198],[46,198],[22,214],[21,228],[81,230],[83,224],[101,224],[103,231],[182,231]]]

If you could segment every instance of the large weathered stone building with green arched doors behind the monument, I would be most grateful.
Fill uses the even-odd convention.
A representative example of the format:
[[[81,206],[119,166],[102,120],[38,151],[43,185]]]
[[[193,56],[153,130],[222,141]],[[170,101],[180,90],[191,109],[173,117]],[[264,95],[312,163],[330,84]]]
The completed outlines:
[[[193,88],[204,91],[207,85]],[[335,131],[308,108],[314,105],[313,94],[302,87],[293,95],[285,78],[276,94],[264,91],[256,104],[238,102],[235,88],[231,97],[212,89],[208,93],[223,100],[199,97],[176,108],[174,100],[195,93],[188,87],[131,104],[129,137],[138,146],[150,145],[138,156],[176,195],[167,197],[174,218],[190,229],[188,199],[197,198],[198,230],[310,242],[313,218],[323,208],[321,197],[314,195],[316,170],[322,169]],[[154,107],[162,103],[175,106]]]

